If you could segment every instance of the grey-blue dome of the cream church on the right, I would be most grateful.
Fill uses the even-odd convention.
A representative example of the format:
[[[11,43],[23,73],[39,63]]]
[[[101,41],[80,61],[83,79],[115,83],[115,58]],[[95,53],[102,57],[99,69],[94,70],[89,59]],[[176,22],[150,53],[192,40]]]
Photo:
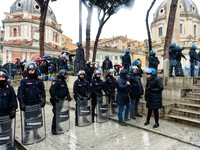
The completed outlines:
[[[194,13],[199,16],[199,10],[197,8],[197,5],[192,0],[179,0],[179,8],[180,11]],[[167,0],[163,1],[156,9],[154,19],[158,18],[159,16],[166,15],[166,10]]]

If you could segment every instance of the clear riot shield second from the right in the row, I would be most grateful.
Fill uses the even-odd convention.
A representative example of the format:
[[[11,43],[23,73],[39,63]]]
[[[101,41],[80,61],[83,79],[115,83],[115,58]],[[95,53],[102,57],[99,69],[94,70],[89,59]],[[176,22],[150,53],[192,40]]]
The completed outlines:
[[[108,101],[106,96],[97,96],[97,122],[108,121]]]

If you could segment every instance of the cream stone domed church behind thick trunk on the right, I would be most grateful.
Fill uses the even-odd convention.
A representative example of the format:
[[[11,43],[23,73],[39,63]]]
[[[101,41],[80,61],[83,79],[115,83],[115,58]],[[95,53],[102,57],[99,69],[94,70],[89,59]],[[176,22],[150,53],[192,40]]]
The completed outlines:
[[[168,24],[169,8],[172,0],[163,1],[157,8],[151,24],[152,46],[158,51],[159,69],[163,68],[164,42]],[[193,44],[200,44],[200,15],[197,5],[192,0],[179,0],[172,42],[185,47],[183,54],[189,60],[189,49]],[[189,61],[182,60],[183,67]]]

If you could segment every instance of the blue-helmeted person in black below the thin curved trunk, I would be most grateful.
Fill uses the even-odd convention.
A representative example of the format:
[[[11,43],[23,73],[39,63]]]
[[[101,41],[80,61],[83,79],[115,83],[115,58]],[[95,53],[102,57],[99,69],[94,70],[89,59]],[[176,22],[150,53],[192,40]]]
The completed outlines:
[[[149,61],[149,68],[154,68],[157,71],[160,61],[158,60],[158,57],[156,57],[156,53],[157,53],[156,50],[151,50],[148,61]]]

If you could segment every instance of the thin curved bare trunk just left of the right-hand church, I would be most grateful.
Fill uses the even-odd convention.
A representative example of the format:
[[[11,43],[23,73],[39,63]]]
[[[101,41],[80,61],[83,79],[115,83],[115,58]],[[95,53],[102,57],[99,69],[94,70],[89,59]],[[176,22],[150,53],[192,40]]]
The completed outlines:
[[[152,50],[151,33],[150,33],[150,29],[149,29],[149,13],[150,13],[152,7],[154,6],[155,2],[156,2],[156,0],[153,0],[153,2],[151,3],[151,6],[149,7],[149,9],[147,11],[147,15],[146,15],[146,28],[147,28],[147,34],[148,34],[149,51]]]

